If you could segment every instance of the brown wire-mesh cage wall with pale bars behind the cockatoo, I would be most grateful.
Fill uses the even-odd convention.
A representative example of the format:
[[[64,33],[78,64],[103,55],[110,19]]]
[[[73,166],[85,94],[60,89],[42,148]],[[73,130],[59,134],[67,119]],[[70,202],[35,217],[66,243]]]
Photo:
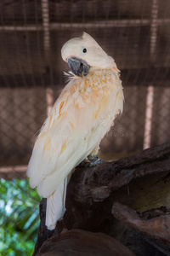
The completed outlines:
[[[170,2],[0,1],[0,173],[26,177],[37,132],[65,86],[65,42],[88,32],[121,70],[125,104],[106,159],[170,138]]]

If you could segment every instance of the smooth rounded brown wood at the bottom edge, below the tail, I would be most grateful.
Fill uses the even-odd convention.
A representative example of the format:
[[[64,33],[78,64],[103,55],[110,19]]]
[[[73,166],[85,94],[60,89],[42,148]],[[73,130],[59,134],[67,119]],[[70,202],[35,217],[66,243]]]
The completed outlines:
[[[42,245],[37,256],[48,255],[49,248],[50,256],[135,256],[111,236],[85,230],[70,230],[51,237]]]

